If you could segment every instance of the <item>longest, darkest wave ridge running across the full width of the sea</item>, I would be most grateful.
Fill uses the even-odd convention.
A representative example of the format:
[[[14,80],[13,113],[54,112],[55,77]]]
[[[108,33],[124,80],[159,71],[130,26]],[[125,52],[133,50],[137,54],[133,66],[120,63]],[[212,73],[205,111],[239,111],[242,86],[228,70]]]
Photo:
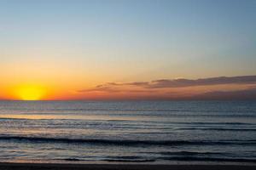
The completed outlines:
[[[46,143],[80,143],[104,145],[224,145],[224,144],[256,144],[256,140],[115,140],[115,139],[61,139],[26,136],[0,136],[0,140],[19,140]]]

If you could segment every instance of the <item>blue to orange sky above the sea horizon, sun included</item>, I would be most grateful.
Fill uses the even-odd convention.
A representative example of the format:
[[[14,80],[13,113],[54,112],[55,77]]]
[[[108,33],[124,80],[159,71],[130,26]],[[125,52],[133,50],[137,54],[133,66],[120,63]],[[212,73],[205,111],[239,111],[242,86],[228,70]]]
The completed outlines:
[[[255,8],[254,0],[0,0],[0,99],[255,98],[247,95],[256,88],[247,77],[256,75]],[[146,86],[212,77],[244,82]]]

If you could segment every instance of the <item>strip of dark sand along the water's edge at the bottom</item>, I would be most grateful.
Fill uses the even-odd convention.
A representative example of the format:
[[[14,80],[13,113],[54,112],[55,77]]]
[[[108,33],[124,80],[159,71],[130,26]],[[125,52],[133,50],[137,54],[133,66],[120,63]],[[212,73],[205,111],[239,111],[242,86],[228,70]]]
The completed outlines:
[[[244,165],[136,165],[136,164],[46,164],[46,163],[0,163],[0,169],[22,169],[22,170],[255,170],[256,166]]]

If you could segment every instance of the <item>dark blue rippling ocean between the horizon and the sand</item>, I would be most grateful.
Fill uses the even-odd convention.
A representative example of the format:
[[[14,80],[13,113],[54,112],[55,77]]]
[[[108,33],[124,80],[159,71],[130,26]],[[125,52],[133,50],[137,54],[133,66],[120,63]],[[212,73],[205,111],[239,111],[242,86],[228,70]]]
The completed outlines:
[[[0,101],[0,161],[256,162],[255,101]]]

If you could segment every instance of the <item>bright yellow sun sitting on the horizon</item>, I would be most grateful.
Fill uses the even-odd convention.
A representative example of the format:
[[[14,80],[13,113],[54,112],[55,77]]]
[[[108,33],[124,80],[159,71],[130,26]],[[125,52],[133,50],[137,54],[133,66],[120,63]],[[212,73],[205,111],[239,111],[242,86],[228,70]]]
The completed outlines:
[[[22,100],[39,100],[44,96],[45,90],[39,86],[26,85],[17,89],[17,95]]]

